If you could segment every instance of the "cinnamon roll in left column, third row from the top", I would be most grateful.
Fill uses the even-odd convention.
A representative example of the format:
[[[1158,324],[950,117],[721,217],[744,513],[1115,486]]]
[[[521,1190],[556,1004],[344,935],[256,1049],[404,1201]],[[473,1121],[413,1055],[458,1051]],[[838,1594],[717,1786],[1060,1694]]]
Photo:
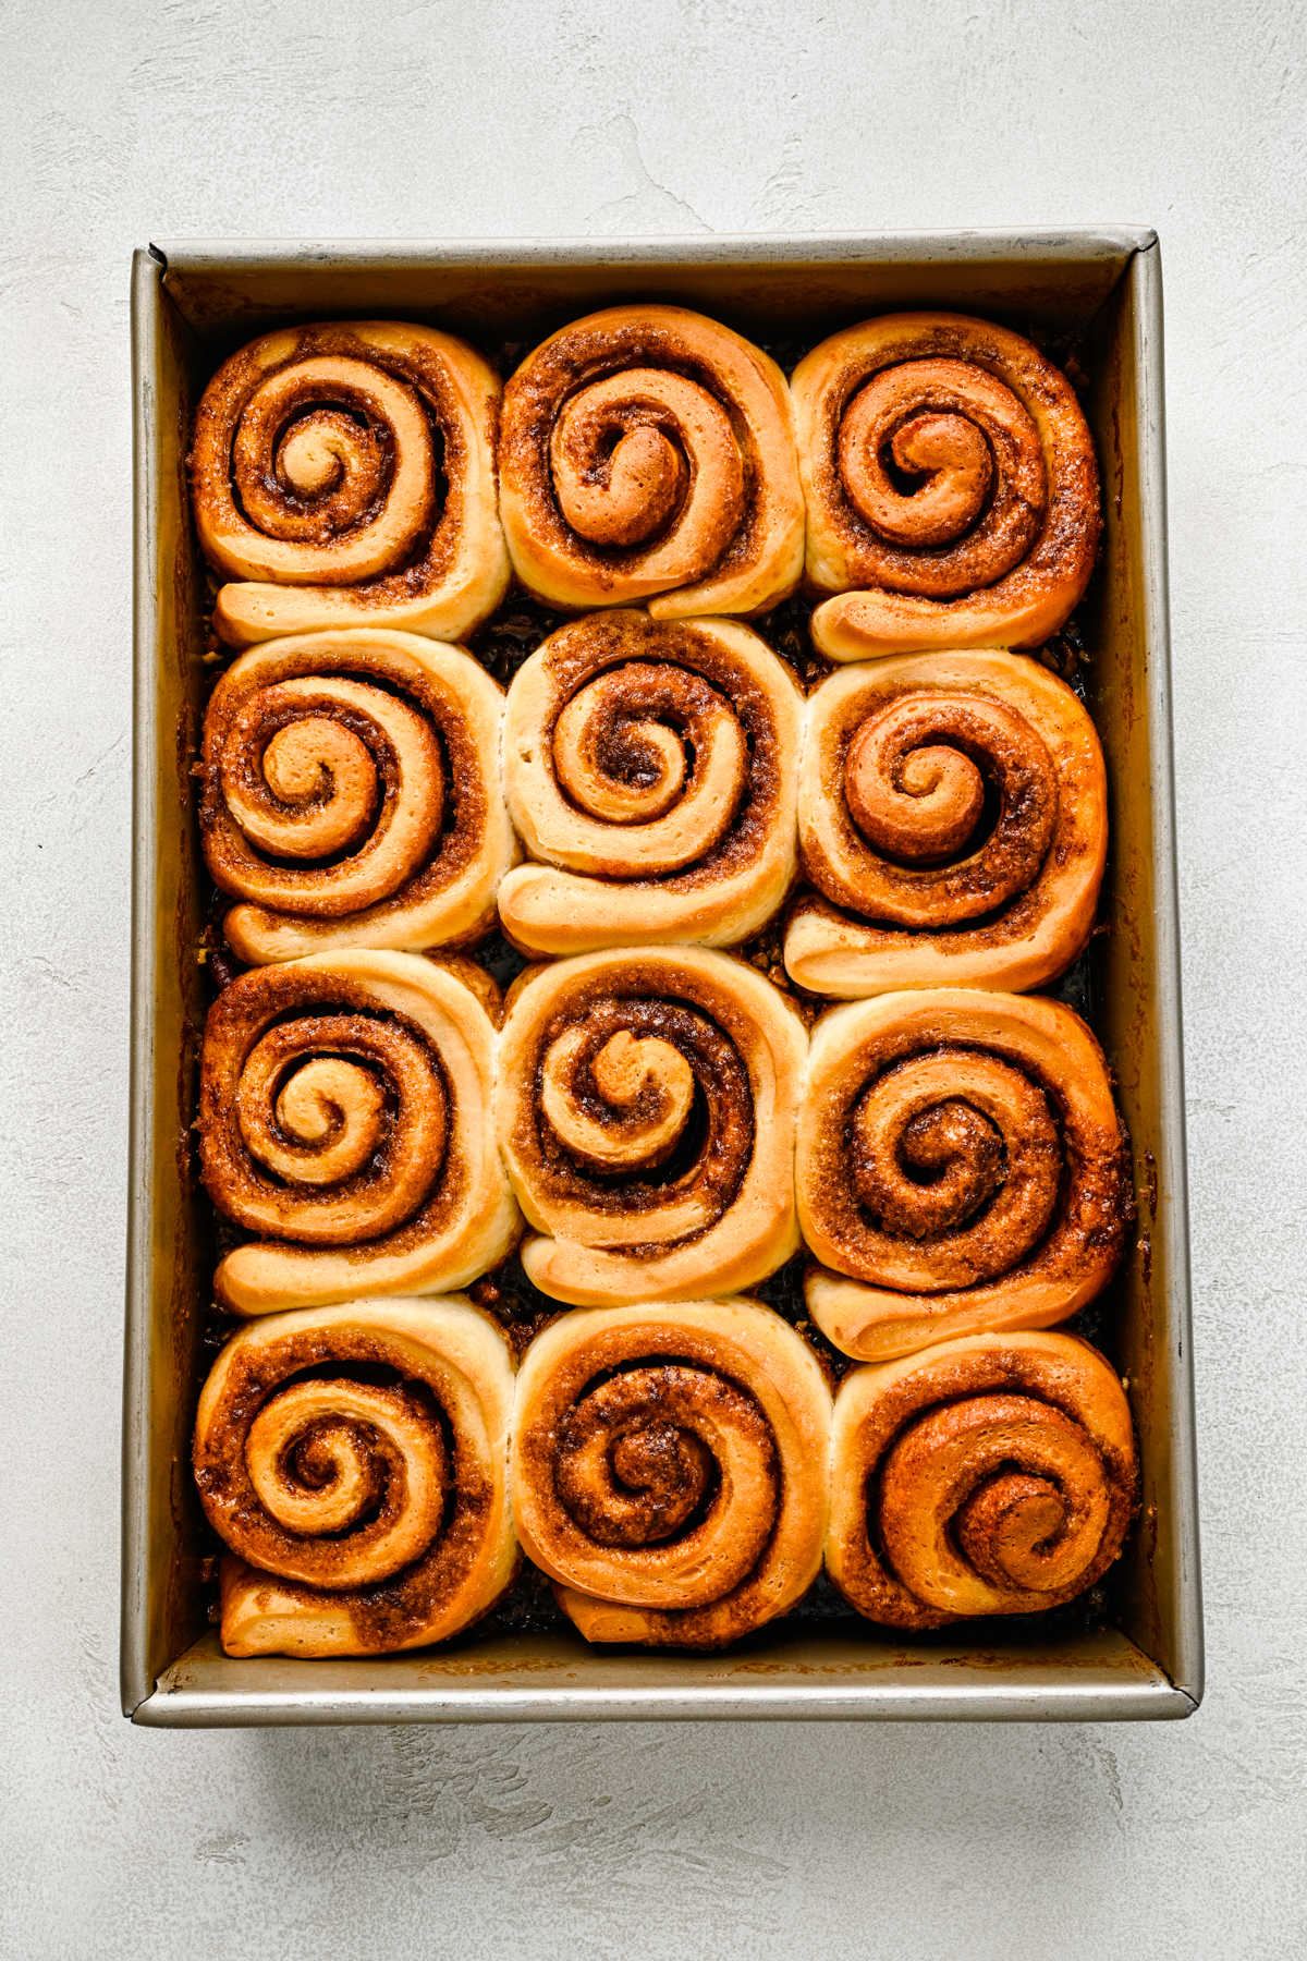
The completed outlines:
[[[312,953],[233,980],[210,1010],[200,1169],[253,1235],[218,1263],[235,1314],[453,1292],[513,1243],[490,1128],[494,1030],[411,953]]]

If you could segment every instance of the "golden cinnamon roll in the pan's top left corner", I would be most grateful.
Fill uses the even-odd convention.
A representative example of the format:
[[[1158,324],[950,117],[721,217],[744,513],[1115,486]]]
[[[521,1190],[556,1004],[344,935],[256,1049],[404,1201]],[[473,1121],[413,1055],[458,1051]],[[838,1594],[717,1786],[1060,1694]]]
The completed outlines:
[[[459,639],[500,604],[500,382],[462,341],[380,320],[265,333],[204,390],[196,529],[235,647],[319,628]]]

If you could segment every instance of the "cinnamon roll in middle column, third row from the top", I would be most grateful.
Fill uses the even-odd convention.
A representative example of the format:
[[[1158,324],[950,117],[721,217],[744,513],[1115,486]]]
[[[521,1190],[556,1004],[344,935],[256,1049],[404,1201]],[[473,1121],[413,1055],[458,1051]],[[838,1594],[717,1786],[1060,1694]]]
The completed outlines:
[[[578,1306],[750,1286],[798,1249],[805,1033],[750,967],[696,947],[527,973],[500,1035],[500,1145],[523,1267]]]

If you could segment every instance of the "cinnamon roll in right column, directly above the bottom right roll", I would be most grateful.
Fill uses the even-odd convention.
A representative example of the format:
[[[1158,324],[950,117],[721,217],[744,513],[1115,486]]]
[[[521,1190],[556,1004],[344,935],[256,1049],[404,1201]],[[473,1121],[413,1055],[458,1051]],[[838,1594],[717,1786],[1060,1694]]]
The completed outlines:
[[[1103,1053],[1029,994],[937,988],[813,1030],[798,1208],[807,1308],[847,1355],[1048,1328],[1111,1279],[1133,1218]]]

